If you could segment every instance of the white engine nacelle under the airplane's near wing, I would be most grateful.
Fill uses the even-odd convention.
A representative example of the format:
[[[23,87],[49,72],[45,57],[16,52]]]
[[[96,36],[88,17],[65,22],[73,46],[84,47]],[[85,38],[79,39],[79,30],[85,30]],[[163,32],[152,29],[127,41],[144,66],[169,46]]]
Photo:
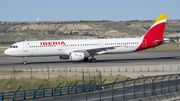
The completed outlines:
[[[69,58],[71,61],[79,61],[84,59],[83,52],[72,52],[69,54]]]

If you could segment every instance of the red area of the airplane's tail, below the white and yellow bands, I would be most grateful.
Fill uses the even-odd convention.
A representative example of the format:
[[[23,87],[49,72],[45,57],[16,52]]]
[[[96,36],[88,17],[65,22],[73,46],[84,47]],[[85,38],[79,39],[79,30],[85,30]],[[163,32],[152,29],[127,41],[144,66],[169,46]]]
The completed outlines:
[[[154,41],[163,40],[165,25],[166,25],[166,22],[163,22],[156,26],[153,26],[147,32],[147,34],[143,37],[143,41],[142,41],[141,45],[135,50],[135,52],[161,45],[162,42],[155,43]]]

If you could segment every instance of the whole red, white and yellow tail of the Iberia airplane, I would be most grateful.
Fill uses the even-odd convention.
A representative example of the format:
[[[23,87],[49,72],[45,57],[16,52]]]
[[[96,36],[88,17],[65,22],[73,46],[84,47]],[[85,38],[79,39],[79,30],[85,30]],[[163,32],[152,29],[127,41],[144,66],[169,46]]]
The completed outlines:
[[[155,47],[163,43],[163,34],[166,26],[167,16],[168,14],[161,14],[159,16],[146,35],[143,36],[141,45],[135,51]]]

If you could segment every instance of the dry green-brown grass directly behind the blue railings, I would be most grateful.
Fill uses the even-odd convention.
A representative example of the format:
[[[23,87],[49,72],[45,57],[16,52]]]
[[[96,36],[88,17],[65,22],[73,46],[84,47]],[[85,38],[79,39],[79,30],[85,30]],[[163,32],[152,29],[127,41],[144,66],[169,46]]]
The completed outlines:
[[[16,73],[20,76],[22,74],[28,74],[24,71],[16,71]],[[12,71],[0,71],[1,75],[12,75]],[[40,74],[40,73],[38,73]],[[36,75],[34,73],[33,75]],[[50,74],[53,75],[53,74]],[[98,77],[96,76],[96,79]],[[114,80],[118,78],[118,81],[125,80],[126,76],[116,75],[116,76],[102,76],[102,81],[106,79],[105,83],[112,83]],[[90,76],[90,80],[94,80],[93,76]],[[78,84],[83,84],[82,82],[82,76],[77,76],[77,74],[74,75],[68,75],[67,81],[66,76],[59,75],[55,78],[50,79],[44,79],[44,78],[36,78],[31,77],[30,78],[9,78],[9,79],[0,79],[0,92],[8,92],[8,91],[16,91],[20,86],[22,86],[21,90],[28,90],[28,89],[37,89],[41,84],[43,84],[42,88],[48,88],[48,87],[56,87],[59,83],[62,83],[61,86],[69,86],[73,85],[76,81],[78,81]],[[98,81],[100,81],[98,79]],[[89,76],[84,77],[85,84],[89,83]],[[93,82],[94,83],[94,82]],[[97,82],[96,80],[96,83]]]

